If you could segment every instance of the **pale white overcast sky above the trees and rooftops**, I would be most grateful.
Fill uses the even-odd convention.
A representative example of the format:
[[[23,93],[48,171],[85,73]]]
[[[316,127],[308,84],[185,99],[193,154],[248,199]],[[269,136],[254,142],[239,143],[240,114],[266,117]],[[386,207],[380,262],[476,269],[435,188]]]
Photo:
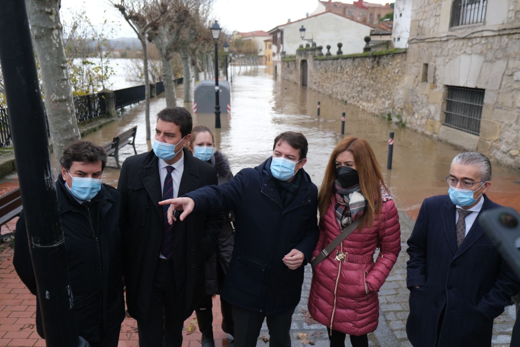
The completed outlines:
[[[352,3],[352,0],[344,0]],[[371,3],[386,4],[388,0],[370,0]],[[88,4],[88,5],[86,5]],[[86,15],[93,24],[100,24],[105,19],[119,23],[112,37],[136,37],[134,31],[121,16],[107,4],[106,0],[63,0],[61,16],[63,20],[69,17],[71,9],[85,8]],[[248,32],[253,30],[268,31],[277,25],[305,17],[318,7],[318,0],[215,0],[213,18],[217,19],[226,32],[233,30]],[[103,14],[103,10],[106,12]]]

